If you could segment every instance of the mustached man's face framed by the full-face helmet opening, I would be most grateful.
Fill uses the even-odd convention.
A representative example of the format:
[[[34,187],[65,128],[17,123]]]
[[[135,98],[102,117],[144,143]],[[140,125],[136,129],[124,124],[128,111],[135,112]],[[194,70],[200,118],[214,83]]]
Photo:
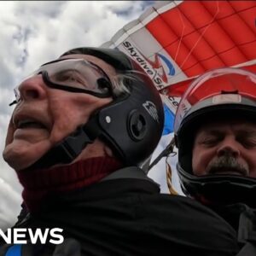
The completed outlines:
[[[231,119],[202,125],[195,136],[192,168],[198,176],[256,177],[256,124]]]

